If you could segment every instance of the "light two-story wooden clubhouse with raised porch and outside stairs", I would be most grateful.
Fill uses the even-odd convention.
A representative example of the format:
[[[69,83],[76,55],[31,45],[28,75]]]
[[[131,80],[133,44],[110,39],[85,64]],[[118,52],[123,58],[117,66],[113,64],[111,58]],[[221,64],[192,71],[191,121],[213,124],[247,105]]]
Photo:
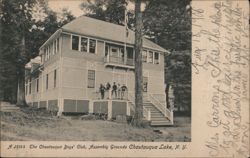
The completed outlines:
[[[59,113],[105,113],[108,118],[134,112],[134,32],[81,16],[57,30],[41,47],[41,61],[27,64],[26,101]],[[144,116],[152,125],[173,123],[167,109],[164,54],[143,38]],[[100,99],[100,84],[127,86],[127,97]]]

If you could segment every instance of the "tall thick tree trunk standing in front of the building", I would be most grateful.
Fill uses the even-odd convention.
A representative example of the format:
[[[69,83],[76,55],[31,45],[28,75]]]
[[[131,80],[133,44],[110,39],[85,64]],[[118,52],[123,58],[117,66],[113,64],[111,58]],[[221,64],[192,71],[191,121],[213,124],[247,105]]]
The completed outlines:
[[[135,1],[135,116],[132,124],[140,127],[143,119],[142,91],[142,13],[141,0]]]

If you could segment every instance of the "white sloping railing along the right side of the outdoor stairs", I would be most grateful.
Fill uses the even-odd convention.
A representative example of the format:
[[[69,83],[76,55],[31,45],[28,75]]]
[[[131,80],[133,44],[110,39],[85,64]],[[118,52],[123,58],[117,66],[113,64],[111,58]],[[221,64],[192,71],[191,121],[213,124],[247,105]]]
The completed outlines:
[[[155,107],[160,110],[165,117],[168,117],[173,124],[173,111],[169,110],[166,105],[162,104],[158,99],[156,99],[152,94],[148,94],[148,97],[152,104],[155,105]]]

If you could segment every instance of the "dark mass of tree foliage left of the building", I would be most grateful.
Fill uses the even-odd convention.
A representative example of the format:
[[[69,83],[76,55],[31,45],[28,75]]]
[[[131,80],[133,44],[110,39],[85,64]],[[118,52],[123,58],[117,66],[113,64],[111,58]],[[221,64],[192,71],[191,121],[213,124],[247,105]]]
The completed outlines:
[[[15,102],[17,81],[24,73],[24,65],[38,55],[39,47],[52,33],[74,16],[63,9],[58,19],[57,13],[42,0],[3,0],[0,4],[0,100]],[[42,8],[45,17],[33,17],[37,6]]]

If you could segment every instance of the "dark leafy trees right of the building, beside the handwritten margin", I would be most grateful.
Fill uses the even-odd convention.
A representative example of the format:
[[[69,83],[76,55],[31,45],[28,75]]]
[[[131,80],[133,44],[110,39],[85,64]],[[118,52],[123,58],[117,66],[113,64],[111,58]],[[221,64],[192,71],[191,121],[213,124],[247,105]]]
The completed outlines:
[[[190,0],[151,0],[144,11],[145,34],[167,50],[166,83],[174,88],[175,105],[191,112]],[[168,87],[168,86],[167,86]],[[168,89],[166,94],[168,94]]]

